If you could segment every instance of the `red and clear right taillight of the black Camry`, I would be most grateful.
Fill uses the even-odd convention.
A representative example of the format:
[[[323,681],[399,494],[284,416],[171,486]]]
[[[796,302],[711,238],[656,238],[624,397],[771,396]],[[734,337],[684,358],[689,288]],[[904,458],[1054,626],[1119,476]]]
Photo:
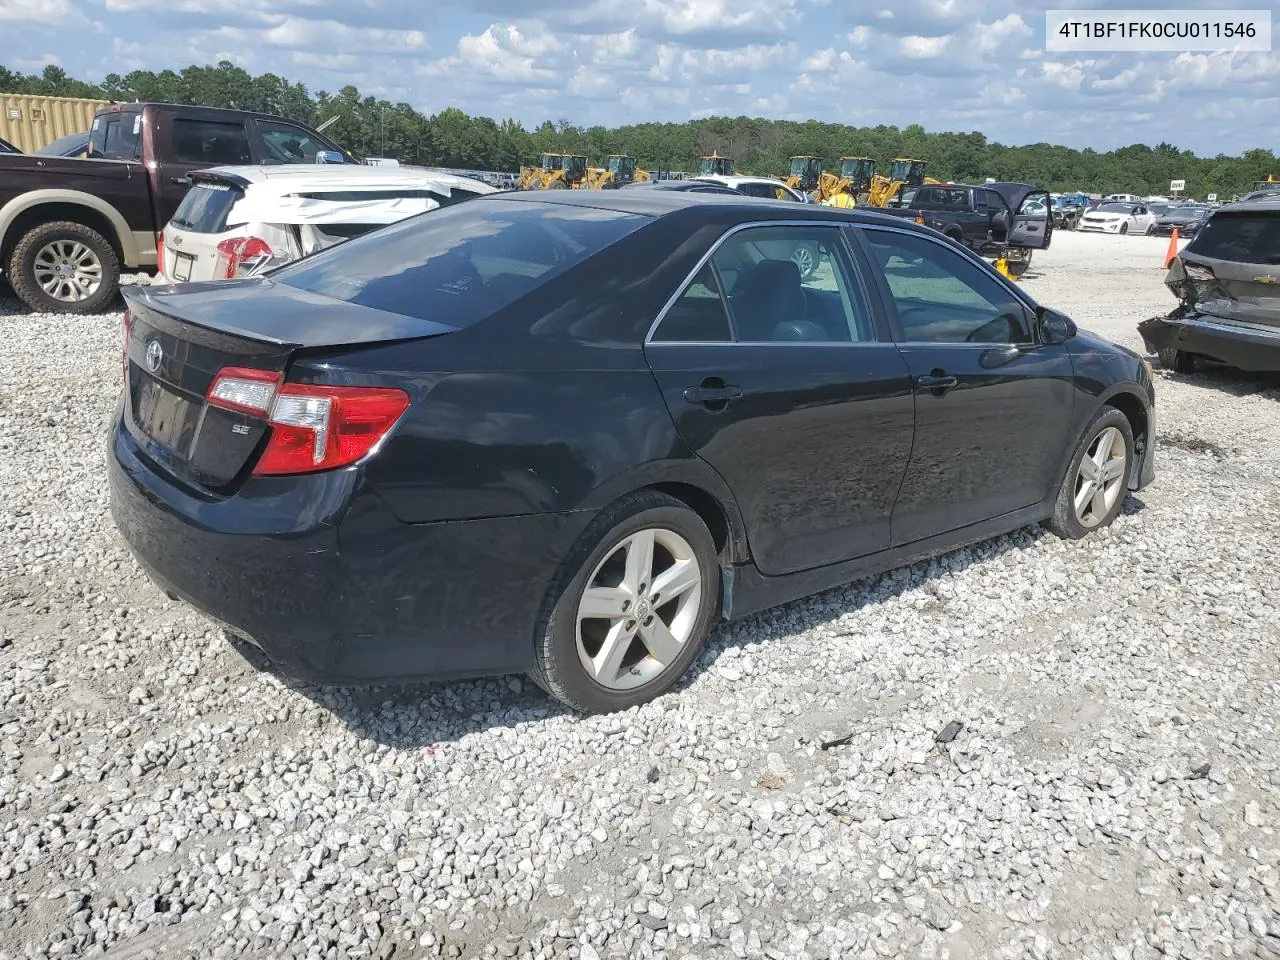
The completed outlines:
[[[408,408],[408,394],[381,387],[287,383],[271,403],[271,431],[253,472],[310,474],[355,463]]]

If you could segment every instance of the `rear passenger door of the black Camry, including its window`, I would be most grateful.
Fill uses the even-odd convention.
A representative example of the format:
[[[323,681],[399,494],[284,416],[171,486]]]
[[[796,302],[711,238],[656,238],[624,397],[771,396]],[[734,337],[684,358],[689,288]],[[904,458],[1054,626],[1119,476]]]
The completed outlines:
[[[801,278],[794,256],[817,248]],[[730,232],[645,356],[685,443],[737,499],[769,576],[882,550],[911,451],[906,364],[838,225]]]

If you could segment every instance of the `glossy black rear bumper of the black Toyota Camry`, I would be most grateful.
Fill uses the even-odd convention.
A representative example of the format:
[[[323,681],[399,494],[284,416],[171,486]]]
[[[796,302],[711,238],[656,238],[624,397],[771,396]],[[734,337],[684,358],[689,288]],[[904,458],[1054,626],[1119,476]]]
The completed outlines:
[[[209,500],[159,474],[119,421],[110,444],[111,513],[152,580],[311,682],[529,669],[562,559],[552,544],[588,518],[402,524],[355,468]]]

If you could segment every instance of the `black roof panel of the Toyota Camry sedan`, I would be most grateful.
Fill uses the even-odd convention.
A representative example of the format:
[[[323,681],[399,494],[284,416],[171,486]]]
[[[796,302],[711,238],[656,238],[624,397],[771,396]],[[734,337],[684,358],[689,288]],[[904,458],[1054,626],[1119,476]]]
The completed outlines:
[[[499,191],[492,197],[468,202],[532,202],[563,204],[564,206],[614,210],[641,216],[667,216],[669,214],[696,215],[705,211],[708,219],[726,219],[739,211],[742,220],[842,220],[846,223],[884,224],[918,233],[933,233],[918,227],[913,220],[879,214],[865,207],[833,207],[817,204],[780,204],[776,200],[749,197],[745,193],[691,193],[678,189],[558,189],[558,191]]]

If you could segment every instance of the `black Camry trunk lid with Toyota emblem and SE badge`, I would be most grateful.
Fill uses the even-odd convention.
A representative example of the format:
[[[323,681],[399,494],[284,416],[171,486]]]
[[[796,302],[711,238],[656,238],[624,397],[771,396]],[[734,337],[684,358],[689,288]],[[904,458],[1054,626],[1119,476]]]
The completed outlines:
[[[252,470],[265,415],[206,401],[219,371],[283,380],[302,351],[433,337],[453,328],[269,279],[127,289],[125,428],[174,479],[225,493]]]

